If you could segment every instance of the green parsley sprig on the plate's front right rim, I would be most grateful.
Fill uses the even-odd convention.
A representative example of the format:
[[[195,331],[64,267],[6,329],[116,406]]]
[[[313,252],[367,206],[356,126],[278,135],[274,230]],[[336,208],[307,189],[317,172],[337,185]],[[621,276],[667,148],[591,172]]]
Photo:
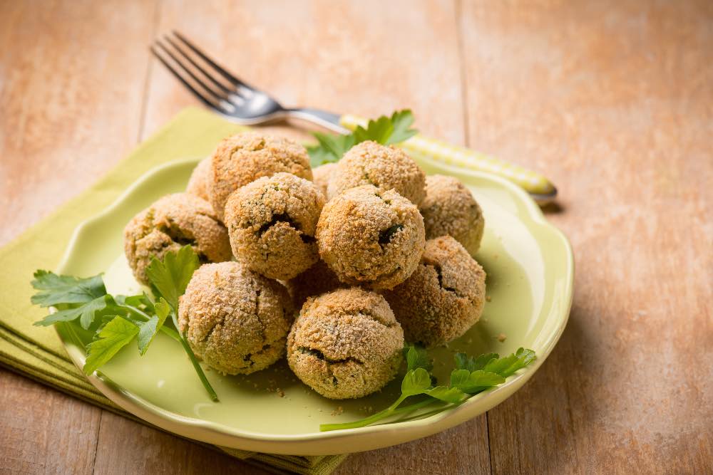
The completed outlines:
[[[386,409],[371,414],[369,417],[342,424],[322,424],[321,431],[338,429],[354,429],[366,427],[397,414],[414,412],[416,409],[435,404],[441,404],[430,414],[443,412],[459,404],[463,404],[479,392],[503,384],[508,376],[529,365],[535,360],[533,350],[520,348],[512,355],[499,357],[497,353],[488,353],[471,357],[465,353],[456,353],[456,369],[451,372],[449,385],[434,385],[436,378],[431,375],[433,363],[426,350],[416,346],[404,348],[406,356],[406,375],[401,381],[401,395]],[[409,397],[421,396],[419,402],[401,405]]]

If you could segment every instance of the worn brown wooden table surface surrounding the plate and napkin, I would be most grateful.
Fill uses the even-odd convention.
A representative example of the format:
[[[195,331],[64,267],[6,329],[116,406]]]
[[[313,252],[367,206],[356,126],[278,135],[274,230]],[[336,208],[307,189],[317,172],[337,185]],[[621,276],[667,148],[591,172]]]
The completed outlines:
[[[196,103],[148,54],[172,28],[284,103],[409,107],[560,189],[577,276],[548,361],[338,474],[713,471],[711,2],[0,1],[0,243]],[[0,472],[92,471],[262,473],[0,372]]]

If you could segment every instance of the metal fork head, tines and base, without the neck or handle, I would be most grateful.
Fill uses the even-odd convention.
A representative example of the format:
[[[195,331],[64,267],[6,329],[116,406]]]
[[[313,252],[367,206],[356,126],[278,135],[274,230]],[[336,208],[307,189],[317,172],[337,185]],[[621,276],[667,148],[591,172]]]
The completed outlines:
[[[151,52],[198,100],[235,122],[253,125],[287,117],[277,100],[232,75],[178,31],[156,40]]]

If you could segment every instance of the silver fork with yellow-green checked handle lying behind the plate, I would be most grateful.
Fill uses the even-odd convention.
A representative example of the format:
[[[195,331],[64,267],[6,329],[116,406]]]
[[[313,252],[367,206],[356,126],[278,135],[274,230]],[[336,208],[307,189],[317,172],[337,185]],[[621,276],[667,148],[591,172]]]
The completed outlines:
[[[366,125],[364,119],[354,115],[312,108],[285,108],[267,93],[220,66],[178,31],[156,40],[150,50],[198,100],[232,122],[257,125],[297,118],[339,133]],[[543,175],[466,147],[422,135],[415,135],[399,146],[423,160],[498,174],[519,184],[539,204],[550,202],[557,195],[557,189]]]

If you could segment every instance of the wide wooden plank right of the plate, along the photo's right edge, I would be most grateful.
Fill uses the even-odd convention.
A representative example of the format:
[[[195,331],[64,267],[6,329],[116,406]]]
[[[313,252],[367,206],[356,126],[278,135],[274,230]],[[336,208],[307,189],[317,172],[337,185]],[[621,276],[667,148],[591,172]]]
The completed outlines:
[[[488,413],[494,473],[711,473],[713,9],[463,2],[471,146],[546,172],[575,249],[550,359]]]

